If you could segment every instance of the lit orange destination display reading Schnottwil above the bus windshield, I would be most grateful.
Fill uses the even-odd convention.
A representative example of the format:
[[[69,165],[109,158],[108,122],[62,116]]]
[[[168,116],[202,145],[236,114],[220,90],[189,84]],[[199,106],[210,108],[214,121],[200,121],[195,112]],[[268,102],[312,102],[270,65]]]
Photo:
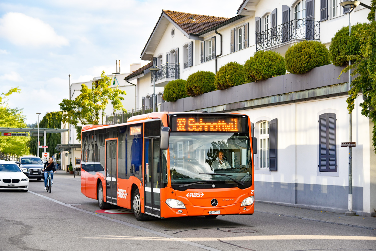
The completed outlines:
[[[246,132],[247,119],[243,117],[172,117],[174,132]]]

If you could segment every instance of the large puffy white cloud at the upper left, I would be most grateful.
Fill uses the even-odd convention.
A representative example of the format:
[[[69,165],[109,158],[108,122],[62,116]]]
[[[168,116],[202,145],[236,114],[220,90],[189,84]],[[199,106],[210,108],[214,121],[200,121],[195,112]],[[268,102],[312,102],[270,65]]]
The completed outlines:
[[[0,18],[0,34],[18,46],[61,47],[69,44],[49,24],[18,12],[9,12]]]

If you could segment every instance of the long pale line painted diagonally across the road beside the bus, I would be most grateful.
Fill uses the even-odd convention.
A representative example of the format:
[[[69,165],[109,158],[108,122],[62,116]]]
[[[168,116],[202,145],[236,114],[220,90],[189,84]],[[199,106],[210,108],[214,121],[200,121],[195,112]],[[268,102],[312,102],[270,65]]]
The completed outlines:
[[[164,234],[164,233],[159,233],[157,231],[154,231],[154,230],[151,230],[149,228],[144,228],[144,227],[140,227],[140,226],[137,226],[137,225],[134,225],[134,224],[131,224],[131,223],[128,223],[128,222],[124,222],[124,221],[119,221],[117,219],[112,219],[110,217],[107,217],[107,216],[104,216],[104,215],[101,215],[101,214],[96,214],[96,213],[93,213],[91,211],[86,211],[84,209],[81,209],[81,208],[78,208],[78,207],[73,207],[69,204],[66,204],[64,202],[61,202],[61,201],[58,201],[56,199],[52,199],[52,198],[49,198],[47,196],[44,196],[44,195],[41,195],[39,193],[35,193],[35,192],[32,192],[32,191],[28,191],[29,193],[32,193],[33,195],[37,195],[39,197],[42,197],[42,198],[45,198],[45,199],[49,199],[50,201],[53,201],[53,202],[56,202],[60,205],[63,205],[65,207],[69,207],[69,208],[72,208],[72,209],[75,209],[75,210],[78,210],[78,211],[81,211],[81,212],[84,212],[84,213],[88,213],[88,214],[91,214],[93,216],[98,216],[100,218],[103,218],[103,219],[106,219],[106,220],[109,220],[109,221],[114,221],[114,222],[117,222],[117,223],[120,223],[120,224],[123,224],[123,225],[126,225],[128,227],[133,227],[133,228],[137,228],[139,230],[143,230],[143,231],[146,231],[148,233],[152,233],[152,234],[156,234],[156,235],[159,235],[159,236],[162,236],[162,237],[165,237],[165,238],[168,238],[168,239],[171,239],[171,240],[175,240],[175,241],[178,241],[178,242],[182,242],[182,243],[185,243],[185,244],[188,244],[188,245],[191,245],[191,246],[196,246],[198,248],[202,248],[202,249],[205,249],[205,250],[209,250],[209,251],[222,251],[220,249],[216,249],[216,248],[211,248],[209,246],[205,246],[205,245],[202,245],[202,244],[199,244],[199,243],[196,243],[196,242],[191,242],[189,240],[185,240],[185,239],[182,239],[182,238],[178,238],[178,237],[174,237],[172,235],[169,235],[169,234]],[[149,237],[150,238],[150,237]]]

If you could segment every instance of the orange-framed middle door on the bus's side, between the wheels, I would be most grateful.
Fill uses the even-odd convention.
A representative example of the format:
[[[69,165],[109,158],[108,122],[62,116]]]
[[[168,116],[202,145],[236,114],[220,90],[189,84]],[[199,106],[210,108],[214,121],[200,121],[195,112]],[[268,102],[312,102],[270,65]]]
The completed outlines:
[[[106,140],[106,201],[117,204],[117,140]]]

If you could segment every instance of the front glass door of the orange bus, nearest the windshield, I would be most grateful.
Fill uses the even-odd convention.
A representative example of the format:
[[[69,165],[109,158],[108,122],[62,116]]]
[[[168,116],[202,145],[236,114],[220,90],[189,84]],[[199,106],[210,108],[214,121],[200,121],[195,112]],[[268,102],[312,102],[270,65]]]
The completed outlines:
[[[145,213],[161,217],[159,137],[145,138]]]

